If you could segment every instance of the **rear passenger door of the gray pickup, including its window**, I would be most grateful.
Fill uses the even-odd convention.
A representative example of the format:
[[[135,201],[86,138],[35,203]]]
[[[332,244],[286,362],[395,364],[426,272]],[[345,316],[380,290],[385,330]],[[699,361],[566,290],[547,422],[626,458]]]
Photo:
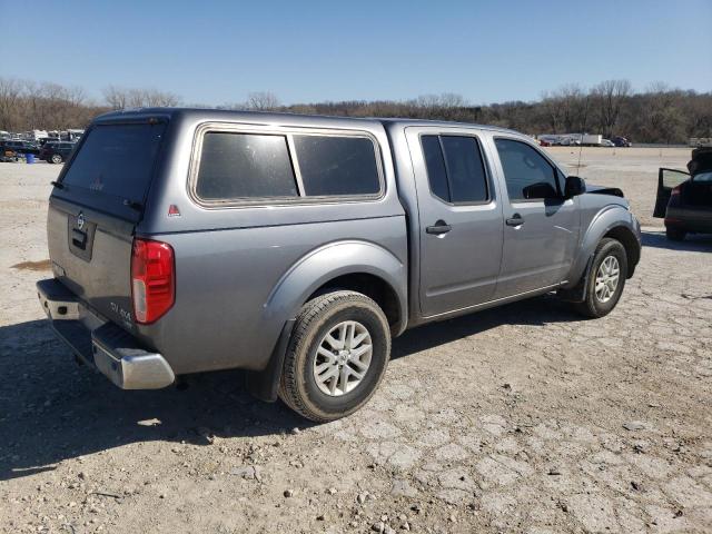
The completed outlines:
[[[408,128],[418,200],[424,317],[491,300],[502,257],[502,207],[477,130]]]

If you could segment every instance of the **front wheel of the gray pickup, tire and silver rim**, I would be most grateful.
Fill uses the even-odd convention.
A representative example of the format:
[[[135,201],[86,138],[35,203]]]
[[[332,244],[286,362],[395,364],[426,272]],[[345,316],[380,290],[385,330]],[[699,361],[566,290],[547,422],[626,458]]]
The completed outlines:
[[[617,269],[615,284],[613,284],[613,276],[611,275],[613,269]],[[591,271],[586,280],[585,300],[583,303],[574,303],[574,309],[584,317],[590,318],[609,315],[621,299],[625,287],[626,274],[627,256],[621,241],[607,237],[601,239],[593,255]],[[603,285],[599,280],[602,280]]]

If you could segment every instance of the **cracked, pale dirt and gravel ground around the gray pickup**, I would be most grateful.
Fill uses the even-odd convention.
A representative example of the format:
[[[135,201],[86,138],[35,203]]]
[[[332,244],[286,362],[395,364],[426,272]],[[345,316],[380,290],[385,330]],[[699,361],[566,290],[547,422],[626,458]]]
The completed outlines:
[[[76,366],[33,289],[59,169],[0,164],[0,530],[712,532],[712,237],[674,245],[650,217],[657,167],[690,152],[551,152],[643,221],[617,308],[543,297],[411,330],[365,409],[316,426],[239,373],[122,392]]]

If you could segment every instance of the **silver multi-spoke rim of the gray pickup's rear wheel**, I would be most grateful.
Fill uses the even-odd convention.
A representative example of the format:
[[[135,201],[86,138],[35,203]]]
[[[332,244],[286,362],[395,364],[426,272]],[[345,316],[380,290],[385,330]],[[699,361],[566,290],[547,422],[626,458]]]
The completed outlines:
[[[314,358],[314,380],[330,397],[353,392],[368,373],[373,356],[368,329],[356,320],[333,327],[319,342]]]

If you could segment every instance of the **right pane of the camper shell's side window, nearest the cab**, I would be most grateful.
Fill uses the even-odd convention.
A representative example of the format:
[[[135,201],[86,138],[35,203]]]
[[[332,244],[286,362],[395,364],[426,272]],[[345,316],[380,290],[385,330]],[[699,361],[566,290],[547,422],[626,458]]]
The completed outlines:
[[[366,137],[294,136],[307,197],[377,195],[380,179],[374,144]]]

